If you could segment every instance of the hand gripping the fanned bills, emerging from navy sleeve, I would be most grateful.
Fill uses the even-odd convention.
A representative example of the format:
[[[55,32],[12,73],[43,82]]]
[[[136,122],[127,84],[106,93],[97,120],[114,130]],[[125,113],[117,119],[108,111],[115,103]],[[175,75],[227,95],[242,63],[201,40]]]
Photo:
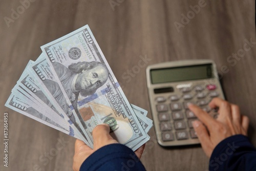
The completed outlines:
[[[118,143],[116,140],[114,140],[110,136],[110,126],[108,124],[100,124],[97,125],[93,129],[93,149],[90,148],[88,145],[86,145],[81,140],[76,140],[75,142],[75,154],[73,158],[73,169],[75,171],[78,171],[83,163],[84,160],[86,160],[91,154],[93,154],[97,149],[109,145]],[[140,159],[143,150],[144,150],[145,144],[143,144],[140,148],[138,148],[135,151],[135,154]]]

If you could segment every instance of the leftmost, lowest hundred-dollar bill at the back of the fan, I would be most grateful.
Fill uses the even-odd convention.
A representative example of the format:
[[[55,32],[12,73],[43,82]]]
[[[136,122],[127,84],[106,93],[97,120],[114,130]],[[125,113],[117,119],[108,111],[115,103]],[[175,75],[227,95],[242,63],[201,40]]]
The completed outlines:
[[[14,94],[11,94],[8,98],[5,106],[7,108],[10,108],[20,114],[23,114],[27,117],[30,117],[36,121],[39,121],[43,124],[46,124],[50,127],[52,127],[55,130],[61,131],[65,134],[73,136],[73,132],[69,129],[65,129],[64,127],[61,127],[57,123],[51,121],[49,118],[42,115],[40,112],[38,112],[36,109],[32,108],[30,104],[24,102],[19,97],[15,96]]]

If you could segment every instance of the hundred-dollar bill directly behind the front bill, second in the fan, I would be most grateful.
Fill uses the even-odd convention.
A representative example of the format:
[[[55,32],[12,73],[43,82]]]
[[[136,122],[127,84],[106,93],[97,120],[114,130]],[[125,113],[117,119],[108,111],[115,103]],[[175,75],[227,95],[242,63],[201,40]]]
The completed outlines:
[[[53,104],[57,111],[63,112],[66,117],[71,120],[75,125],[78,134],[81,135],[82,140],[92,147],[92,141],[89,139],[83,127],[79,126],[79,119],[73,114],[71,108],[69,108],[68,99],[63,96],[60,91],[59,85],[56,82],[50,69],[48,62],[46,61],[44,54],[41,54],[37,60],[28,67],[28,72],[36,80],[37,86],[47,96],[48,100]]]

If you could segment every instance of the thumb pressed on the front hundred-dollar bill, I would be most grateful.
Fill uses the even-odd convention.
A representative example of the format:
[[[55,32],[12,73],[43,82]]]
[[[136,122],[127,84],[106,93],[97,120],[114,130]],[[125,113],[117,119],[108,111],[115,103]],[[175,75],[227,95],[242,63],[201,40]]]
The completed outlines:
[[[110,126],[108,124],[98,124],[93,129],[93,141],[95,150],[105,145],[118,143],[110,136]]]

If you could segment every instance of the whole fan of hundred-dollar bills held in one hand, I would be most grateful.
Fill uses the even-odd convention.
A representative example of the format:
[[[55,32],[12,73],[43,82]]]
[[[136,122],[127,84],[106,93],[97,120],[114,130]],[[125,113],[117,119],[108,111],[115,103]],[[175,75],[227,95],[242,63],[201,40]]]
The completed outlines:
[[[153,121],[130,104],[88,25],[41,47],[12,89],[6,106],[93,147],[97,124],[135,151]]]

